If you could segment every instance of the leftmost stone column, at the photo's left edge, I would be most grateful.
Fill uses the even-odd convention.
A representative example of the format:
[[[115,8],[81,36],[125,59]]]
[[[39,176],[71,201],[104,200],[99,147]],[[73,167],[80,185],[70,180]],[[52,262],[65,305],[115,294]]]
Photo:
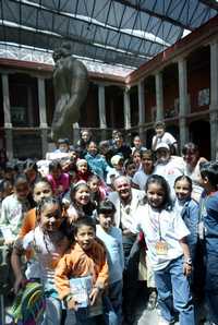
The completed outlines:
[[[11,105],[9,96],[9,77],[8,74],[1,75],[2,80],[2,94],[3,94],[3,115],[4,115],[4,136],[7,158],[13,159],[13,133],[11,123]]]

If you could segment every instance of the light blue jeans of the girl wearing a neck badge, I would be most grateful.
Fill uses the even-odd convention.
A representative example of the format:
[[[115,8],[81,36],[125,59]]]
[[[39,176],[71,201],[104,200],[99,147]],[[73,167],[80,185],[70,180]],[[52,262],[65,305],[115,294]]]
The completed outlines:
[[[172,260],[166,268],[156,270],[155,281],[161,316],[173,322],[173,310],[177,310],[180,325],[194,325],[194,306],[189,280],[183,275],[183,258]]]

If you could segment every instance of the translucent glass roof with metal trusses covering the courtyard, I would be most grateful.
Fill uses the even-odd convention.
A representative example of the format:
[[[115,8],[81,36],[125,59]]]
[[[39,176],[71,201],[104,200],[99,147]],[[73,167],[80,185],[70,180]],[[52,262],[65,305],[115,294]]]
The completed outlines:
[[[216,0],[1,0],[0,57],[50,64],[68,40],[88,70],[124,76],[217,11]]]

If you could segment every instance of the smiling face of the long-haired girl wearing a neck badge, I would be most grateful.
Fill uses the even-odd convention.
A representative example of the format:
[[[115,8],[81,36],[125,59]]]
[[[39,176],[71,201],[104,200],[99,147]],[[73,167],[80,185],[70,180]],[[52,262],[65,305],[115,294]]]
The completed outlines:
[[[165,200],[165,191],[158,183],[150,183],[147,189],[147,202],[154,208],[160,208]]]

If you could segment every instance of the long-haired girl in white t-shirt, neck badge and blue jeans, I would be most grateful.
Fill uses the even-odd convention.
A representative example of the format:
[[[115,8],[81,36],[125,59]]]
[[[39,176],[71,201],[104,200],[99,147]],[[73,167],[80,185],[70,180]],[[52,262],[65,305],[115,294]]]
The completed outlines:
[[[155,272],[159,325],[174,321],[174,309],[181,325],[194,325],[194,308],[187,276],[192,272],[189,246],[190,234],[179,214],[171,210],[170,191],[161,176],[150,176],[145,192],[147,203],[136,212],[136,229],[142,230],[147,255]]]

